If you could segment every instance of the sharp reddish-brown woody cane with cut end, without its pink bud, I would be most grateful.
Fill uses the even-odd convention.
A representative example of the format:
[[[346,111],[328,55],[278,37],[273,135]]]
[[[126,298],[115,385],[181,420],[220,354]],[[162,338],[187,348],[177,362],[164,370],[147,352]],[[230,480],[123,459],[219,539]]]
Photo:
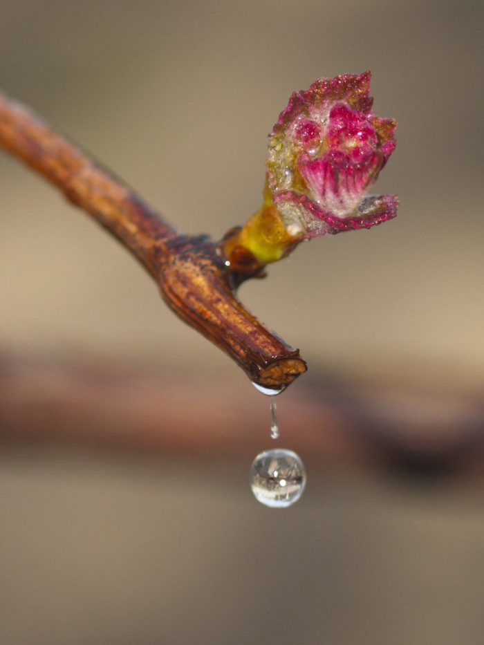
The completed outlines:
[[[128,247],[176,315],[230,355],[253,382],[283,389],[306,371],[299,351],[270,333],[234,295],[242,281],[262,274],[252,256],[228,262],[223,245],[207,236],[178,234],[120,180],[3,95],[0,145]]]

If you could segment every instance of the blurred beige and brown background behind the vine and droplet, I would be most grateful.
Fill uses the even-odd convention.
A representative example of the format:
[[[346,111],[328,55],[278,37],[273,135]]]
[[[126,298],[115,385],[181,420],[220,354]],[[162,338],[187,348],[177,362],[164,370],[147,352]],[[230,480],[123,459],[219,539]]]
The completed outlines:
[[[294,90],[373,73],[398,218],[241,288],[309,371],[308,466],[248,487],[268,400],[129,253],[0,156],[0,642],[484,639],[482,4],[3,0],[0,82],[188,233],[260,205]]]

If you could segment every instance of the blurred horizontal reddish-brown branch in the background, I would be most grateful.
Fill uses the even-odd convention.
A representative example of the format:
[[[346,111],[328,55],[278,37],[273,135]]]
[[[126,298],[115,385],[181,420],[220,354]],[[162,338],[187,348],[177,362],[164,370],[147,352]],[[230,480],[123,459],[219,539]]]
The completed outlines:
[[[314,467],[483,479],[482,400],[376,384],[322,391],[279,406],[282,437]],[[263,447],[264,410],[270,442],[268,400],[233,394],[220,380],[190,387],[122,366],[0,357],[0,443],[250,462]]]

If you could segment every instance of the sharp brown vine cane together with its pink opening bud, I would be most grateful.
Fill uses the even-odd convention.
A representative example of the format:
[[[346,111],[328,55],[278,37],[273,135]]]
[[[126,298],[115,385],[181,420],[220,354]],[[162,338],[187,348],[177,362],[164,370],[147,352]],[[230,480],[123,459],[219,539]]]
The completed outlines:
[[[263,205],[219,242],[178,232],[145,200],[25,106],[0,94],[0,145],[91,214],[147,269],[178,317],[255,384],[281,390],[306,371],[299,350],[236,298],[243,281],[303,240],[370,228],[394,196],[365,196],[395,147],[395,122],[370,112],[369,72],[294,93],[270,135]]]

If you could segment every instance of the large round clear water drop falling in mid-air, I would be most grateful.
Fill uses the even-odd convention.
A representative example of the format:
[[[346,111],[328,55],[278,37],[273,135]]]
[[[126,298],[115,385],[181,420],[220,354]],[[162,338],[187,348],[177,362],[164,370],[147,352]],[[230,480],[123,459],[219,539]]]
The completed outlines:
[[[290,506],[301,497],[305,486],[303,462],[292,450],[266,450],[252,462],[250,487],[257,501],[265,506]]]

